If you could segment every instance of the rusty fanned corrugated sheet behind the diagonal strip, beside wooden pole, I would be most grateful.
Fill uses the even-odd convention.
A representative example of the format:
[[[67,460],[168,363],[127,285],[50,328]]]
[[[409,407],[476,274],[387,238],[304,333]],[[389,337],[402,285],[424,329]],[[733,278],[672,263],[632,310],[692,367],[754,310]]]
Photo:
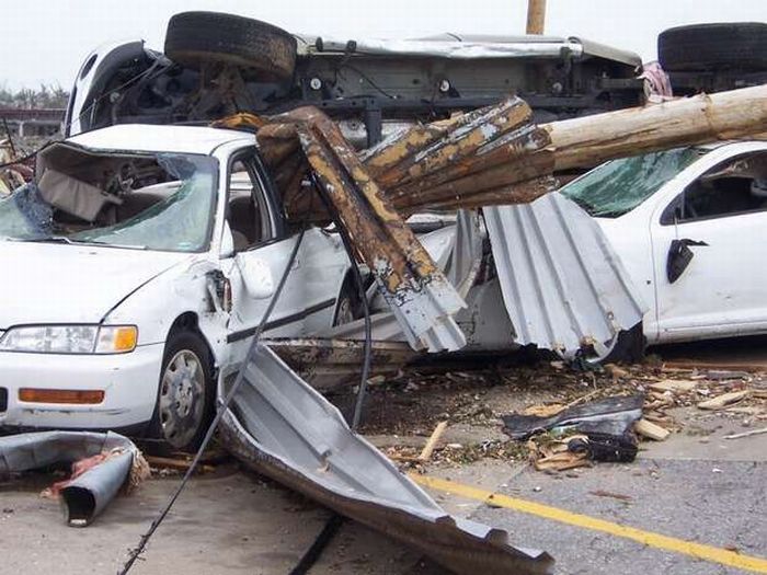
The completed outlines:
[[[300,187],[302,176],[296,176],[307,168],[298,165],[295,152],[297,123],[308,110],[271,118],[257,137],[288,216],[300,219],[311,212],[317,221],[328,215]],[[523,100],[510,97],[450,119],[416,124],[358,158],[403,216],[428,208],[524,204],[557,187],[549,133],[531,116]]]

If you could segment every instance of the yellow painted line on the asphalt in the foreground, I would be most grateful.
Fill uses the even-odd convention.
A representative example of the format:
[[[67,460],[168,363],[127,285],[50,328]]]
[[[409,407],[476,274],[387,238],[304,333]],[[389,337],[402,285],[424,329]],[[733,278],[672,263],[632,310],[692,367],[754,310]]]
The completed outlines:
[[[454,495],[476,499],[497,507],[505,507],[516,511],[537,515],[538,517],[573,525],[575,527],[582,527],[584,529],[603,531],[615,537],[631,539],[632,541],[637,541],[643,545],[683,553],[685,555],[711,561],[713,563],[720,563],[730,567],[737,567],[755,573],[767,573],[767,560],[762,557],[741,555],[735,551],[729,551],[726,549],[694,543],[691,541],[685,541],[684,539],[676,539],[674,537],[653,533],[652,531],[643,531],[642,529],[637,529],[634,527],[626,527],[610,521],[605,521],[603,519],[597,519],[595,517],[589,517],[587,515],[566,511],[564,509],[560,509],[559,507],[551,507],[549,505],[542,505],[540,503],[530,502],[527,499],[508,497],[507,495],[493,493],[479,487],[472,487],[471,485],[455,483],[448,480],[427,478],[415,473],[411,473],[410,479],[425,487],[451,493]]]

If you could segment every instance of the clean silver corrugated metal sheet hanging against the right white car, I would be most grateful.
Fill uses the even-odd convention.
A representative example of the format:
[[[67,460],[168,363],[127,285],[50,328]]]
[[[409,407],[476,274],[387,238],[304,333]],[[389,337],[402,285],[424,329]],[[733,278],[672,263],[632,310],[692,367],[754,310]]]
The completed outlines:
[[[596,221],[573,202],[548,194],[483,212],[518,343],[568,356],[641,321],[645,303]]]

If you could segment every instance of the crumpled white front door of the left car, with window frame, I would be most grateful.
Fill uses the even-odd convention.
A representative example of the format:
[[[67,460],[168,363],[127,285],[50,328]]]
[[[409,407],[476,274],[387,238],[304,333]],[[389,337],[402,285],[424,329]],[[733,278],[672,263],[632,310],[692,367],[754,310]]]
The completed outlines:
[[[229,343],[245,342],[255,332],[300,235],[286,233],[261,169],[252,149],[236,154],[229,163],[226,218],[234,249],[221,266],[231,285]],[[300,241],[268,318],[267,336],[300,337],[321,325],[332,325],[348,267],[343,244],[336,235],[317,228],[308,229]]]

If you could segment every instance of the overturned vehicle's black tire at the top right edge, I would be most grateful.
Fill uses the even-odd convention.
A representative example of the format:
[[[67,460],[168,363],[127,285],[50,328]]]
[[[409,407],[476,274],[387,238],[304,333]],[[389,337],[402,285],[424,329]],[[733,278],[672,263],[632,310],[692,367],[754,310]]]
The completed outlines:
[[[664,70],[765,70],[767,24],[732,22],[668,28],[657,36]]]

